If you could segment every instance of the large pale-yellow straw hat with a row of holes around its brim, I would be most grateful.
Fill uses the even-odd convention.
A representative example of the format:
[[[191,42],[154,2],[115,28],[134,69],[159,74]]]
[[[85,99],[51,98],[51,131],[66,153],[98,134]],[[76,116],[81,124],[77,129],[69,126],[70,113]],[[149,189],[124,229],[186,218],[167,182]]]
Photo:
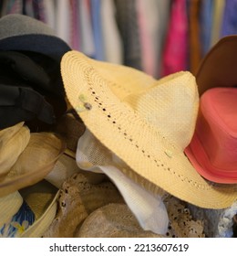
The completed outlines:
[[[206,181],[183,153],[199,108],[190,72],[154,80],[139,70],[69,51],[61,73],[67,98],[88,130],[129,165],[123,173],[153,193],[161,187],[202,208],[232,204],[237,187]]]

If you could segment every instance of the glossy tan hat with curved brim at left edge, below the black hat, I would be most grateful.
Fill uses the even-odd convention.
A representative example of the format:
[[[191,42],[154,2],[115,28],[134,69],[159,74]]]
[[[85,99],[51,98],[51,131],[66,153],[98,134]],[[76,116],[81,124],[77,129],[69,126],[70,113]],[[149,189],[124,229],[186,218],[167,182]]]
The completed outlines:
[[[14,143],[22,148],[25,141],[22,138]],[[0,197],[42,180],[54,168],[65,147],[54,133],[30,133],[26,148],[0,180]],[[9,158],[12,156],[15,159],[15,150],[8,153]]]

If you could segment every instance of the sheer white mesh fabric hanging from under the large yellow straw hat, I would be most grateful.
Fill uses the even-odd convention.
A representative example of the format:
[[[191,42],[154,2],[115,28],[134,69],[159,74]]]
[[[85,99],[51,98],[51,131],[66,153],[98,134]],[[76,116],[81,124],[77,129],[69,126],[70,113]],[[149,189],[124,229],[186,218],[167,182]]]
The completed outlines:
[[[158,234],[167,232],[169,219],[161,196],[152,195],[125,176],[120,170],[128,166],[100,144],[88,129],[78,140],[77,165],[84,170],[106,174],[118,187],[143,229]]]

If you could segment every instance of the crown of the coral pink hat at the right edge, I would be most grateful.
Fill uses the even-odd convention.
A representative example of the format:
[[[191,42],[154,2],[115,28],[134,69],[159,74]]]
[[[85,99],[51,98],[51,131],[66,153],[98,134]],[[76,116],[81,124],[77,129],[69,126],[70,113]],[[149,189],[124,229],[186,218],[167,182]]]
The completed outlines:
[[[237,170],[237,89],[214,88],[201,97],[197,133],[210,165]]]

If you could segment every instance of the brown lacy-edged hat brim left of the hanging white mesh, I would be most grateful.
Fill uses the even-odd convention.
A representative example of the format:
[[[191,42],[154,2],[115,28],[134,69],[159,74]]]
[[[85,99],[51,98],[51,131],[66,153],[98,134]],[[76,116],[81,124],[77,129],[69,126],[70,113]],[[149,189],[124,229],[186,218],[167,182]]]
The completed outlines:
[[[75,173],[61,187],[57,216],[44,237],[74,237],[88,214],[108,203],[124,203],[123,197],[111,182],[90,184],[87,176]]]

